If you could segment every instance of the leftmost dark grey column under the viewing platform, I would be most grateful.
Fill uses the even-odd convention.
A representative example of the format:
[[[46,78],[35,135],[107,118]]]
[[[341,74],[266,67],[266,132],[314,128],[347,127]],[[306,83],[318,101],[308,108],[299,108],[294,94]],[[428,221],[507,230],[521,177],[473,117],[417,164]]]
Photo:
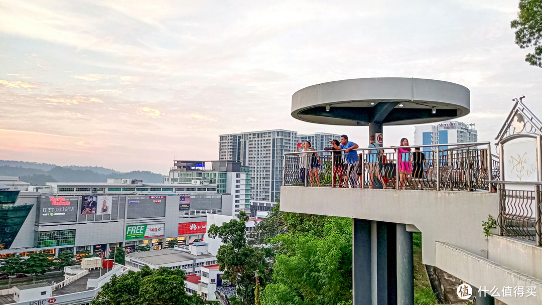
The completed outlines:
[[[371,305],[371,222],[353,219],[352,294],[354,305]]]

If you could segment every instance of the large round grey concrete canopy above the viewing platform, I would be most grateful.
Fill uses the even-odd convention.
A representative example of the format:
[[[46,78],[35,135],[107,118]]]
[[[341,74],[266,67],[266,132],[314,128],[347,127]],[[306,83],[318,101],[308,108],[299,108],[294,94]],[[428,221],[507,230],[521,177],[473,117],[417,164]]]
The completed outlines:
[[[294,118],[327,125],[424,124],[459,118],[469,112],[469,89],[437,80],[342,80],[310,86],[292,95]]]

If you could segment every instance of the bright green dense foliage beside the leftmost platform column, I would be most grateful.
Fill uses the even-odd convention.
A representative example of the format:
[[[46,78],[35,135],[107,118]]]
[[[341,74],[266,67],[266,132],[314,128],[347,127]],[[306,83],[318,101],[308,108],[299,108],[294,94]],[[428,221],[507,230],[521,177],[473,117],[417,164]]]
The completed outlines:
[[[292,214],[292,213],[288,213]],[[273,265],[272,283],[262,292],[261,303],[334,305],[352,300],[352,220],[325,217],[302,222],[289,215],[298,228],[274,239],[280,250]]]

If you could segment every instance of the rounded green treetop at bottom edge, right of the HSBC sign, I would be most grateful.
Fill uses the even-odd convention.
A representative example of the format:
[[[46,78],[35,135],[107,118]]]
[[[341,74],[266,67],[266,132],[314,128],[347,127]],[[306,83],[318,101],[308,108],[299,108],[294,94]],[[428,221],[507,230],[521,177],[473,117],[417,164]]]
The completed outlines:
[[[180,269],[161,267],[141,271],[128,271],[102,286],[92,301],[93,305],[203,305],[197,294],[188,295],[184,288],[186,276]]]

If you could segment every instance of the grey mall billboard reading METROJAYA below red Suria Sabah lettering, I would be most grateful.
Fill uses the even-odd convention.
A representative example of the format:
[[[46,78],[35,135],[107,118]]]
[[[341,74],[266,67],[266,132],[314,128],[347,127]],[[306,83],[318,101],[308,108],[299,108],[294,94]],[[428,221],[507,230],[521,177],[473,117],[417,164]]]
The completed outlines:
[[[78,198],[46,196],[39,200],[38,223],[74,222],[77,220]]]

